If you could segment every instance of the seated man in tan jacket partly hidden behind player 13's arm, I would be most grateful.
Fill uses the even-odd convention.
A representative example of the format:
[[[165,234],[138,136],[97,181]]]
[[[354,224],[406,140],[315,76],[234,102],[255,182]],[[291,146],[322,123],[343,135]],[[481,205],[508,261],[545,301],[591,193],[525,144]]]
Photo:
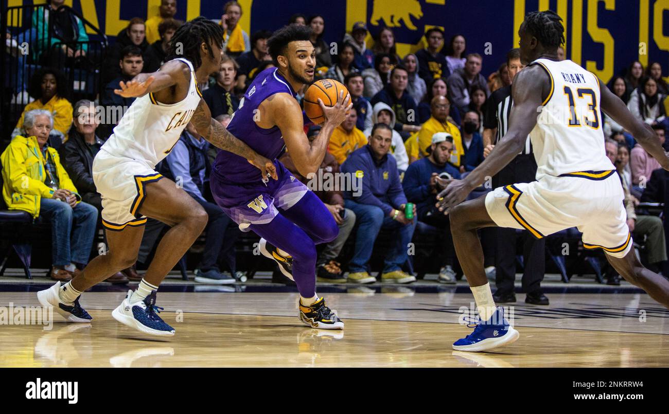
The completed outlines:
[[[609,157],[611,163],[617,163],[617,151],[619,144],[613,140],[606,140],[606,156]],[[630,233],[634,235],[646,236],[646,254],[648,255],[648,264],[652,271],[657,272],[658,265],[667,260],[666,241],[664,240],[664,228],[662,227],[662,219],[654,215],[641,215],[635,211],[635,206],[638,200],[630,193],[630,187],[627,186],[626,181],[620,177],[623,191],[625,194],[625,210],[627,212],[627,224],[630,228]],[[650,175],[648,175],[650,179]],[[619,285],[619,276],[615,273],[607,275],[607,284]]]

